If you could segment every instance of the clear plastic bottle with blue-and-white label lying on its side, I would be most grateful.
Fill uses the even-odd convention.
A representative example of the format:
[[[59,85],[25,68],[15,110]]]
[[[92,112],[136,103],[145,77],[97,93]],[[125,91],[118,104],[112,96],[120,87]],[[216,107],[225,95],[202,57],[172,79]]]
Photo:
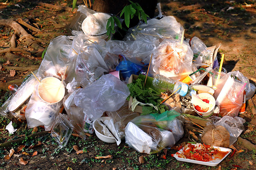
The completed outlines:
[[[170,92],[175,92],[180,88],[177,92],[175,92],[176,94],[180,94],[180,96],[196,94],[196,91],[193,90],[189,85],[180,81],[172,80],[159,74],[154,77],[152,85],[156,88],[168,90]]]

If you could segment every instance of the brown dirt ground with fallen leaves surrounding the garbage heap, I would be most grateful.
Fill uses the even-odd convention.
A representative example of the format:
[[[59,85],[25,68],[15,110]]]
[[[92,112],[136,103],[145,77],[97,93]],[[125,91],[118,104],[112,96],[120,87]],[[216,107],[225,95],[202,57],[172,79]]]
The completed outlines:
[[[0,0],[5,2],[5,0]],[[218,59],[220,61],[221,54],[225,54],[223,67],[229,71],[239,70],[248,77],[250,83],[255,85],[256,82],[256,9],[254,7],[244,7],[242,5],[255,4],[254,0],[249,1],[210,1],[210,0],[178,0],[169,1],[162,0],[161,6],[164,15],[174,16],[178,22],[185,28],[185,37],[199,37],[205,42],[207,47],[222,44],[219,50]],[[11,4],[0,4],[0,19],[18,18],[27,19],[40,30],[33,36],[43,48],[47,48],[50,40],[60,34],[70,34],[65,28],[70,18],[75,15],[71,11],[56,10],[37,4],[37,1],[13,0]],[[52,3],[61,6],[72,7],[71,0],[46,0],[44,3]],[[245,4],[246,3],[246,4]],[[83,1],[77,1],[77,4],[83,4]],[[157,13],[157,11],[156,11]],[[24,27],[28,33],[34,31]],[[10,47],[10,41],[13,29],[6,26],[0,26],[0,51]],[[43,40],[43,41],[42,41]],[[17,48],[29,51],[31,55],[21,52],[14,52],[17,58],[9,60],[4,53],[0,52],[0,105],[10,96],[10,92],[6,92],[7,82],[11,84],[20,84],[23,78],[29,74],[28,71],[36,70],[42,58],[36,56],[42,50],[33,48],[30,44],[23,41],[17,41]],[[9,62],[8,62],[9,61]],[[9,69],[16,67],[15,76],[10,75]],[[17,69],[17,67],[19,67]],[[5,88],[4,88],[5,87]],[[256,104],[256,96],[252,98],[252,103]],[[255,105],[246,103],[246,112],[240,114],[246,120],[244,123],[245,130],[241,137],[247,139],[254,146],[256,144],[256,113]],[[26,122],[13,123],[14,128],[18,129],[14,135],[10,135],[5,130],[10,120],[0,117],[0,143],[18,139],[20,137],[31,134],[32,129],[28,129]],[[38,127],[38,132],[44,131]],[[196,133],[198,136],[198,134]],[[31,144],[40,144],[30,149]],[[188,141],[186,134],[178,144]],[[17,151],[20,144],[25,147],[20,152],[15,152],[19,157],[12,156],[11,159],[3,159],[10,149]],[[202,166],[197,164],[180,162],[171,157],[175,150],[168,150],[165,158],[163,151],[146,155],[127,147],[125,141],[117,146],[116,144],[108,144],[99,140],[94,134],[87,137],[84,141],[78,137],[71,136],[68,145],[60,149],[58,144],[52,140],[50,134],[28,138],[26,137],[22,143],[13,143],[10,147],[0,148],[0,169],[110,169],[128,170],[128,169],[217,169],[218,167]],[[76,154],[73,145],[77,145],[80,150],[84,150],[82,154]],[[256,149],[246,149],[244,144],[236,142],[234,147],[239,153],[231,154],[224,159],[219,165],[221,169],[256,169]],[[35,156],[32,156],[37,152]],[[95,159],[96,156],[112,155],[112,159]],[[139,157],[144,156],[145,163],[140,164]],[[28,164],[21,165],[20,157],[28,161]]]

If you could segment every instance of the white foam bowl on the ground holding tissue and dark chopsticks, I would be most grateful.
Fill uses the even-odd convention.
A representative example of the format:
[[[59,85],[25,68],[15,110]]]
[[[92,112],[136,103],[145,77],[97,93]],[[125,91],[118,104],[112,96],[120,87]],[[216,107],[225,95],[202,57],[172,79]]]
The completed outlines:
[[[110,117],[100,117],[93,121],[92,126],[93,126],[96,136],[103,142],[116,143],[116,139],[114,137],[107,137],[101,133],[101,130],[103,129],[103,127],[100,126],[100,124],[98,123],[97,120],[99,120],[99,119],[102,119],[102,122],[104,122],[104,120],[110,120],[111,118]],[[95,125],[96,125],[96,127],[95,127]]]

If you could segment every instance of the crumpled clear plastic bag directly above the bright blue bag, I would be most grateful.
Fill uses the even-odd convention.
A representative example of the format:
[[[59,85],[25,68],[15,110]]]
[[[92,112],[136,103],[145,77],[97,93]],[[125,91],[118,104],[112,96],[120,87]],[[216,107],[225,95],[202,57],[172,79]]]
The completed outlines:
[[[109,53],[123,55],[132,63],[145,66],[149,63],[152,53],[155,53],[159,40],[155,37],[141,37],[135,41],[107,41],[107,50]]]

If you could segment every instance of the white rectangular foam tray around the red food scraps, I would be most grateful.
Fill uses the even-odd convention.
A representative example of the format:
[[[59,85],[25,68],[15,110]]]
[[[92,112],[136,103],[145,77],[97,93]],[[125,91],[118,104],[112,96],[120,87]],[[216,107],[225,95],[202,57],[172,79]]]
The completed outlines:
[[[183,148],[180,151],[178,151],[178,152],[183,154]],[[189,163],[193,163],[193,164],[200,164],[200,165],[206,165],[206,166],[217,166],[231,152],[231,149],[229,149],[229,148],[223,148],[223,147],[219,147],[219,146],[213,146],[213,148],[217,148],[219,151],[228,152],[228,153],[222,159],[219,159],[219,158],[214,159],[214,157],[213,157],[214,160],[211,160],[211,161],[208,161],[208,162],[192,160],[192,159],[185,159],[185,158],[179,158],[177,154],[174,154],[173,157],[175,159],[179,160],[179,161],[182,161],[182,162],[189,162]]]

